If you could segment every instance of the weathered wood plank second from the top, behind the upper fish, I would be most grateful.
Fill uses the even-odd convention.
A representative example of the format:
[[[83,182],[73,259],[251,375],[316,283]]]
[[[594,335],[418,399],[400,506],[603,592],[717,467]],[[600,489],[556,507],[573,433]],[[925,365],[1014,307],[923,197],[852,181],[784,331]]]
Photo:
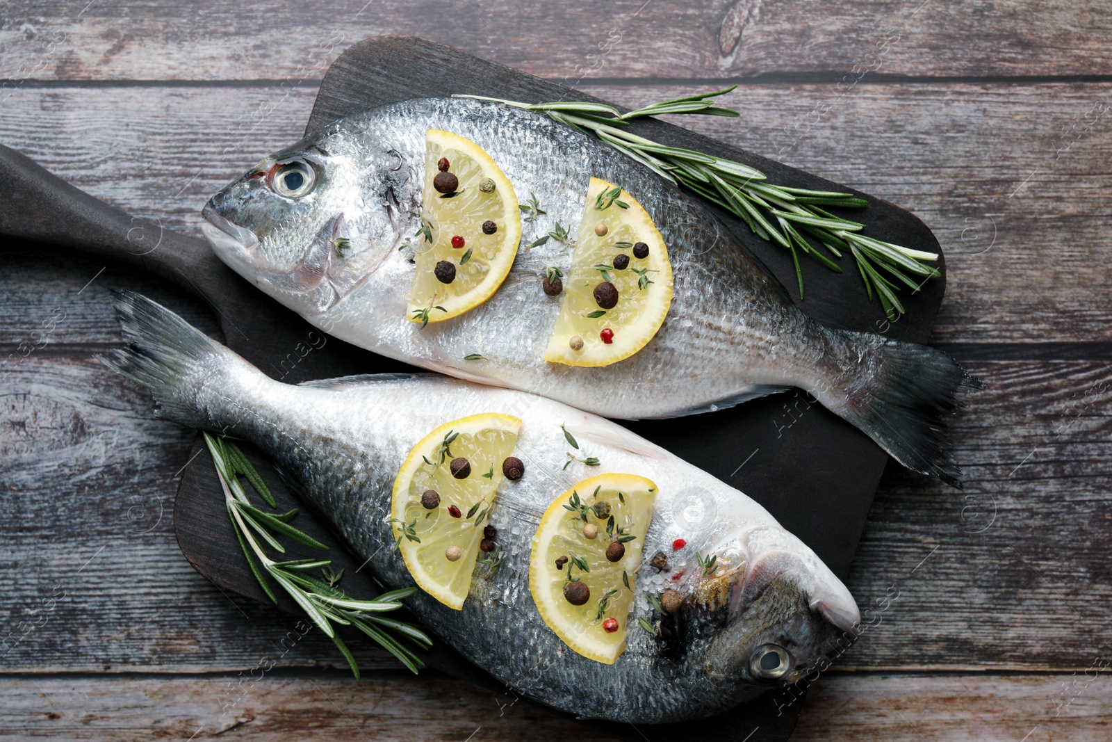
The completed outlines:
[[[678,89],[588,91],[639,105]],[[1112,249],[1103,165],[1112,159],[1112,93],[1075,83],[905,85],[838,96],[828,86],[751,88],[728,99],[743,119],[683,122],[923,218],[951,270],[935,339],[1112,342],[1112,309],[1091,298],[1105,288]],[[0,141],[132,214],[196,234],[207,195],[300,136],[311,98],[266,88],[23,90],[6,102]],[[826,106],[812,123],[808,115]],[[130,111],[127,126],[120,111]],[[1000,141],[1017,145],[1002,155]]]

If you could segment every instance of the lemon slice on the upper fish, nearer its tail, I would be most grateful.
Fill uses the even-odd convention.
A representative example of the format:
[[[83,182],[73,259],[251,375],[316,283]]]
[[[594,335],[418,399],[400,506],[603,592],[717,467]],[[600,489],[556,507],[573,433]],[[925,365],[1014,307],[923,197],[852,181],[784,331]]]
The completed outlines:
[[[672,306],[672,264],[664,238],[641,204],[624,190],[615,192],[616,188],[598,178],[587,187],[572,269],[564,281],[567,288],[545,360],[608,366],[628,358],[653,339]],[[604,235],[597,234],[597,225],[605,225]],[[646,257],[635,255],[638,243],[648,248]],[[619,255],[628,260],[625,269],[613,267]],[[604,273],[596,266],[609,268]],[[617,289],[613,307],[595,298],[603,283]]]

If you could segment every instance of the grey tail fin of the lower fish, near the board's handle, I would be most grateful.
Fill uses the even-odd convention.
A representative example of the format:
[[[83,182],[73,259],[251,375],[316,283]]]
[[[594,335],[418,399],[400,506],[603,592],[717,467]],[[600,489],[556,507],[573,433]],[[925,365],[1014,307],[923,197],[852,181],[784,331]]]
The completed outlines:
[[[150,389],[157,417],[209,431],[229,426],[217,399],[203,387],[227,389],[230,372],[250,364],[166,307],[133,291],[113,290],[116,316],[128,342],[96,358],[108,368]],[[206,399],[209,402],[206,402]]]

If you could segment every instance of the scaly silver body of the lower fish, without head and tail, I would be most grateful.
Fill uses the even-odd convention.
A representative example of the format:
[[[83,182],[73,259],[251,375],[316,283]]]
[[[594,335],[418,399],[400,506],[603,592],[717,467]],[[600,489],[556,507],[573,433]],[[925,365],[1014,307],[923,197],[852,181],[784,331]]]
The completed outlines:
[[[290,387],[254,369],[239,370],[201,392],[197,404],[207,419],[214,426],[230,425],[271,454],[390,588],[414,585],[386,522],[394,476],[411,447],[428,431],[467,415],[500,412],[522,418],[515,455],[525,462],[526,474],[516,483],[502,483],[490,511],[505,552],[500,568],[490,580],[483,567],[476,570],[461,611],[420,591],[407,601],[441,641],[507,689],[582,716],[638,722],[707,715],[761,690],[733,679],[712,681],[704,672],[721,616],[693,626],[679,661],[662,657],[656,641],[637,625],[637,617],[654,619],[648,592],[692,584],[698,573],[696,552],[717,551],[729,560],[744,550],[746,534],[772,528],[783,542],[776,548],[795,550],[817,564],[806,546],[742,493],[613,423],[542,397],[433,376]],[[197,373],[214,376],[210,367]],[[602,466],[573,464],[562,469],[569,449],[562,423]],[[614,665],[587,660],[564,645],[540,619],[528,587],[532,535],[540,515],[557,495],[604,472],[637,473],[659,487],[643,566],[635,575],[634,614],[623,617],[629,627],[628,649]],[[698,531],[677,517],[683,503],[675,493],[693,488],[714,514]],[[671,550],[677,537],[688,541],[683,553]],[[685,573],[685,582],[665,584],[666,575],[647,566],[657,551],[672,555],[672,574]]]

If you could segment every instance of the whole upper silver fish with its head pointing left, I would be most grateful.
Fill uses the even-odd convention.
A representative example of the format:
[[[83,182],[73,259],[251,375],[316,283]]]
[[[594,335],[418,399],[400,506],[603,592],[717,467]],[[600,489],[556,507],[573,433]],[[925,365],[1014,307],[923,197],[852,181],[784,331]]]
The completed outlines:
[[[429,313],[435,319],[444,310],[434,300],[420,325],[407,313],[415,273],[407,248],[426,226],[430,131],[480,147],[529,216],[500,288],[459,316],[427,324]],[[567,236],[579,230],[593,177],[619,184],[648,214],[667,246],[673,294],[644,348],[612,365],[577,367],[545,359],[560,305],[546,300],[542,285],[547,290],[554,268],[569,270]],[[904,466],[960,486],[942,413],[976,382],[952,358],[808,318],[692,198],[539,113],[463,98],[375,108],[265,158],[203,215],[207,238],[232,269],[317,327],[384,356],[619,419],[688,415],[801,387]],[[454,277],[456,267],[445,267]],[[613,342],[607,332],[603,343]],[[573,337],[572,347],[582,339]]]

